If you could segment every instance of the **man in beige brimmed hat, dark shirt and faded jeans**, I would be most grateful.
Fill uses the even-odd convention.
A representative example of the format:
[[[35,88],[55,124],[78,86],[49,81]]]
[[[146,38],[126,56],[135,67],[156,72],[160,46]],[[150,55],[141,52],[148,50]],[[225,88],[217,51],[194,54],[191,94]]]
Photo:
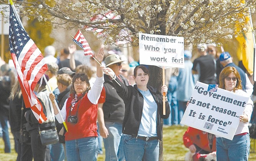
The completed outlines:
[[[111,68],[125,85],[129,85],[127,79],[120,74],[122,62],[119,55],[116,54],[111,54],[105,58],[106,67]],[[98,122],[106,150],[105,161],[123,161],[125,156],[121,136],[125,104],[122,98],[118,96],[111,77],[104,74],[104,80],[101,96],[105,95],[105,102],[98,105]]]

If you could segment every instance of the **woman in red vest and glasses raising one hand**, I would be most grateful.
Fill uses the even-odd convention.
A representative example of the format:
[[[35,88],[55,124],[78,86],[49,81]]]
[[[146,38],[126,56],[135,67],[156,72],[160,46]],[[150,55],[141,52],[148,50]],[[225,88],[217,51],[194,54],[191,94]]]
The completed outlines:
[[[103,48],[94,58],[102,62]],[[70,98],[66,99],[62,110],[58,112],[54,104],[55,96],[50,93],[55,117],[59,123],[62,118],[68,131],[65,133],[66,157],[68,161],[96,161],[98,155],[97,108],[104,77],[100,64],[97,64],[96,81],[90,87],[89,79],[84,73],[77,73],[70,89]]]

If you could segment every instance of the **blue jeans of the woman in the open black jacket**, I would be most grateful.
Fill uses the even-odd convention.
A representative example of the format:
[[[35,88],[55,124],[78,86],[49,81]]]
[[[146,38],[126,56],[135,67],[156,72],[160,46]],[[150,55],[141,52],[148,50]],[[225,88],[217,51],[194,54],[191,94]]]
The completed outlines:
[[[125,161],[158,161],[159,140],[144,141],[130,135],[123,135]]]

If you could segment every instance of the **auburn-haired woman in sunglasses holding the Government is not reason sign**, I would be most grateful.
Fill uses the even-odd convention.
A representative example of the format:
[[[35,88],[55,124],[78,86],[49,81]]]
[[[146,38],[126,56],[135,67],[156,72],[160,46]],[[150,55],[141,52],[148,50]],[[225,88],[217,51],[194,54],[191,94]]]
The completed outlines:
[[[228,66],[220,72],[219,88],[247,95],[241,85],[241,77],[236,68]],[[249,96],[248,96],[249,97]],[[253,111],[253,101],[249,99],[245,111],[239,116],[240,123],[233,140],[216,135],[217,161],[248,161],[250,152],[249,121]]]

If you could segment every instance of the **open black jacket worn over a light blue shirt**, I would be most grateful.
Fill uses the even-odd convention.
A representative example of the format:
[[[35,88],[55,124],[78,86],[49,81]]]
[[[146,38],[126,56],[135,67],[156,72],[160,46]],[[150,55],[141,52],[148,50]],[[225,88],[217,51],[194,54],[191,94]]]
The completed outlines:
[[[117,89],[118,95],[125,103],[125,117],[123,119],[123,134],[132,135],[136,137],[141,123],[144,98],[138,91],[137,85],[126,86],[118,78],[116,79],[121,87],[113,80],[113,84]],[[161,118],[167,119],[170,115],[170,106],[168,101],[165,101],[165,115],[163,115],[163,97],[160,92],[147,85],[150,93],[157,103],[157,138],[162,140],[162,125]]]

